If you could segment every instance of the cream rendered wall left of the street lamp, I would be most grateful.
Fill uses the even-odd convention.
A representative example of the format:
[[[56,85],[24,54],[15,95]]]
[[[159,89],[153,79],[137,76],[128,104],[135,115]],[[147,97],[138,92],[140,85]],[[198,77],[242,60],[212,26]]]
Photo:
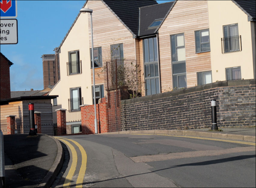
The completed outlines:
[[[59,54],[61,79],[49,93],[49,95],[59,95],[57,97],[58,105],[53,106],[53,112],[58,108],[69,109],[70,88],[81,87],[84,104],[92,104],[88,16],[90,14],[80,14],[61,46]],[[76,50],[79,50],[80,60],[82,61],[82,74],[67,76],[68,52]]]

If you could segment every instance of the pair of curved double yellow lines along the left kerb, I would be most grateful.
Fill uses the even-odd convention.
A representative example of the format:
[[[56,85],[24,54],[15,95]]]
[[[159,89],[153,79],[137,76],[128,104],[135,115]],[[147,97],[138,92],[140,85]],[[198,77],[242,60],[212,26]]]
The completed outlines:
[[[70,142],[68,142],[67,140],[73,142],[76,146],[78,146],[81,155],[82,155],[82,163],[81,163],[81,167],[79,170],[79,174],[78,174],[78,178],[76,181],[76,187],[82,187],[83,186],[83,181],[84,181],[84,175],[85,175],[85,171],[86,171],[86,164],[87,164],[87,155],[86,152],[84,150],[84,148],[76,141],[68,139],[68,138],[62,138],[62,137],[54,137],[60,141],[62,141],[63,143],[65,143],[71,150],[72,152],[72,164],[71,167],[69,169],[69,173],[66,176],[65,182],[63,184],[63,187],[70,187],[70,183],[72,180],[73,175],[75,174],[75,169],[77,166],[77,152],[75,150],[75,147],[72,146],[72,144]]]

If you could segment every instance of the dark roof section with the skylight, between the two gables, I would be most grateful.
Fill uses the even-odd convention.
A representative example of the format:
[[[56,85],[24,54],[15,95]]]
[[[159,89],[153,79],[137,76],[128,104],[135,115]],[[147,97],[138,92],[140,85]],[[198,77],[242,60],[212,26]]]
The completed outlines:
[[[168,16],[176,1],[140,7],[139,15],[139,36],[154,34],[162,25],[166,16]],[[162,19],[161,24],[156,27],[149,28],[149,26],[157,19]]]

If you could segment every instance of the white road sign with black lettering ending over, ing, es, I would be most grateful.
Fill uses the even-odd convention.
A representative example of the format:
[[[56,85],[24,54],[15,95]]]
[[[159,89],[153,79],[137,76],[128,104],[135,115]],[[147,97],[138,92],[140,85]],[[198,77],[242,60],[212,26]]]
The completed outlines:
[[[18,43],[18,21],[17,19],[1,19],[1,45]]]

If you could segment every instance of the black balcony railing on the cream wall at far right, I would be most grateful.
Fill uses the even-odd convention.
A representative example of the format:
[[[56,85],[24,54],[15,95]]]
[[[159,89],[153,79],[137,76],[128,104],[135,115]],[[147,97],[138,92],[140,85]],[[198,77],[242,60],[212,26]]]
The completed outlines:
[[[242,51],[241,35],[221,38],[222,54]]]

